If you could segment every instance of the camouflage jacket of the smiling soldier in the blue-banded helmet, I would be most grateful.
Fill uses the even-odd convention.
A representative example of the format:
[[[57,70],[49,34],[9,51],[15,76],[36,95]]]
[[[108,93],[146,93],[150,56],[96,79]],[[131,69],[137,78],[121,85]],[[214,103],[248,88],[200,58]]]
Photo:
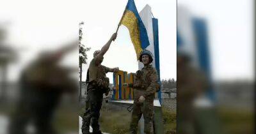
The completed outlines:
[[[138,70],[135,75],[133,88],[135,89],[134,99],[140,98],[140,96],[154,98],[154,93],[159,91],[160,88],[156,68],[150,64]]]

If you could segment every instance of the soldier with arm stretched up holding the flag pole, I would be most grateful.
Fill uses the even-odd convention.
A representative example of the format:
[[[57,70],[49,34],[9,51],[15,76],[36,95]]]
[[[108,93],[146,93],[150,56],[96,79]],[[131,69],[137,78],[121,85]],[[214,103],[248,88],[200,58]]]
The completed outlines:
[[[87,87],[89,108],[83,115],[83,134],[90,133],[90,123],[92,119],[93,133],[101,133],[99,126],[100,108],[102,106],[103,94],[108,94],[109,79],[106,77],[108,72],[116,72],[118,68],[108,68],[103,66],[104,54],[108,51],[112,41],[115,41],[116,33],[109,39],[108,43],[104,45],[101,50],[96,50],[93,53],[93,59],[89,66],[89,83]]]

